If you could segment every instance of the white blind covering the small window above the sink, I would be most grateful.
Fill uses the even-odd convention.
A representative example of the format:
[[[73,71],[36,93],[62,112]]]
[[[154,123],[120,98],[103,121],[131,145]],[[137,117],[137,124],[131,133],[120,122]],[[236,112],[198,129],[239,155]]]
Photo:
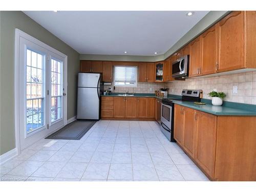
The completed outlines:
[[[115,86],[137,86],[136,66],[115,66]]]

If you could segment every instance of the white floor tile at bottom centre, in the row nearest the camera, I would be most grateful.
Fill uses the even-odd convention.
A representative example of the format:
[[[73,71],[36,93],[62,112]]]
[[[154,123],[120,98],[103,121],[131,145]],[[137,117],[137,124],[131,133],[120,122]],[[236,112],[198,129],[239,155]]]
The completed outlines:
[[[108,180],[109,179],[132,180],[132,164],[111,164]]]

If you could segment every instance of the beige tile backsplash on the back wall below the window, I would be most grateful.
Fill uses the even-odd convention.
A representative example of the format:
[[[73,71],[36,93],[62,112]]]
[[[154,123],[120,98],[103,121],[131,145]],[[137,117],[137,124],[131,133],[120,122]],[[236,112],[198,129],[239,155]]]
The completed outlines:
[[[113,84],[113,83],[112,83]],[[112,88],[112,91],[114,86],[104,86],[104,90],[109,90],[109,88]],[[155,90],[159,90],[162,87],[167,87],[167,83],[148,83],[148,82],[138,82],[136,88],[131,87],[115,87],[116,93],[124,93],[125,91],[129,91],[129,93],[155,93]],[[152,91],[151,91],[152,88]]]

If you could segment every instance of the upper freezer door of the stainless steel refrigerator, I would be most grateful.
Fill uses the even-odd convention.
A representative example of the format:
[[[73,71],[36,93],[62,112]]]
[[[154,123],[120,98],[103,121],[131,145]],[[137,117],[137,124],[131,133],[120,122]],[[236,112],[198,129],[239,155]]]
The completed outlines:
[[[99,85],[99,73],[78,73],[78,87],[97,88]]]

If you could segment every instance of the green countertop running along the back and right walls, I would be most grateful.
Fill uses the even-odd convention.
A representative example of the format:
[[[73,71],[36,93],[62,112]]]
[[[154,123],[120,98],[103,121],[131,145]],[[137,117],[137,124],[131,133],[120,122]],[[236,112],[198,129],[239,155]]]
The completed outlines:
[[[110,95],[101,95],[101,96],[123,97],[123,96],[119,96],[118,94],[123,94],[123,93],[111,93]],[[135,93],[134,96],[125,96],[125,97],[155,97],[158,99],[164,98],[164,97],[155,96],[155,94],[151,94],[151,93]],[[167,98],[169,99],[181,98],[181,96],[168,95]],[[192,108],[195,110],[203,111],[203,112],[214,114],[214,115],[256,116],[256,105],[254,104],[224,101],[222,106],[214,106],[211,104],[211,100],[209,99],[202,99],[201,101],[205,102],[206,104],[199,105],[189,101],[173,100],[175,104],[179,104],[182,106],[186,106],[188,108]]]

